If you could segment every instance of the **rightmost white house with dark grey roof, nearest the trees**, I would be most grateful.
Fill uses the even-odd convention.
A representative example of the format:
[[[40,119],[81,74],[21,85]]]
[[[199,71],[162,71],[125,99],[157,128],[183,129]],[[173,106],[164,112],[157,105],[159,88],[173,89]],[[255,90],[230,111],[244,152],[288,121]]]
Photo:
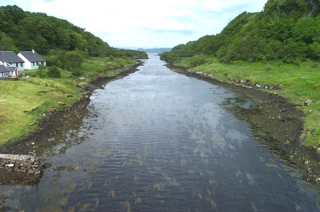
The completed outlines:
[[[33,49],[32,51],[20,51],[17,55],[24,61],[25,69],[37,69],[38,64],[46,65],[45,59]]]

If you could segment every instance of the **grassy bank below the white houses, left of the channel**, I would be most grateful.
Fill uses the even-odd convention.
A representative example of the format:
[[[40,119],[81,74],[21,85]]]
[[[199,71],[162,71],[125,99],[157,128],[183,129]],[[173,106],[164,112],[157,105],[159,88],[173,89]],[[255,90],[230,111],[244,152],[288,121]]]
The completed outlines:
[[[0,80],[0,145],[34,131],[37,121],[50,111],[71,107],[81,98],[77,85],[86,84],[98,76],[117,75],[120,70],[128,69],[135,63],[135,60],[125,58],[94,57],[81,64],[79,76],[59,69],[60,78],[45,76],[24,78],[27,81]],[[36,74],[36,70],[25,70],[23,73]]]

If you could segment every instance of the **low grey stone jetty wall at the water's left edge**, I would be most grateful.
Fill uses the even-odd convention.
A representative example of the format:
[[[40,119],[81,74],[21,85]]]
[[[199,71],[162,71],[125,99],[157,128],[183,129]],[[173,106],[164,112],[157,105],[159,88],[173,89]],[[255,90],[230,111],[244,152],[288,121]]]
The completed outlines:
[[[0,170],[26,175],[41,175],[42,165],[37,157],[0,154]]]

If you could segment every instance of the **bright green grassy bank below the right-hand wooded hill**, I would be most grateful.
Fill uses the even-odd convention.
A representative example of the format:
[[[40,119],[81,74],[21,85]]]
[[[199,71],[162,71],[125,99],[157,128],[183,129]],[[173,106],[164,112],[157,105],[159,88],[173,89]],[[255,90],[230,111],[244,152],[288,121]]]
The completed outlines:
[[[304,61],[300,64],[285,64],[281,61],[258,61],[254,63],[234,61],[220,63],[214,56],[208,56],[205,63],[190,68],[191,57],[184,57],[176,65],[188,67],[191,70],[212,74],[221,81],[234,79],[249,80],[259,85],[266,84],[279,87],[278,95],[285,96],[289,101],[303,105],[311,100],[309,106],[300,106],[304,112],[304,129],[307,137],[303,142],[306,146],[320,144],[320,63]],[[262,89],[263,90],[263,89]],[[265,92],[273,92],[265,90]]]

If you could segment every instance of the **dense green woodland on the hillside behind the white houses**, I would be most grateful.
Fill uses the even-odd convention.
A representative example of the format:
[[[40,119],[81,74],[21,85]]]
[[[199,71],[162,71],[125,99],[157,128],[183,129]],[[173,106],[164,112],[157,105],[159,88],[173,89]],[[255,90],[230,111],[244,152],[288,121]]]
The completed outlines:
[[[77,51],[87,56],[145,57],[142,51],[118,50],[84,28],[40,12],[23,11],[16,5],[0,6],[2,50],[30,51],[42,55],[56,51]]]

